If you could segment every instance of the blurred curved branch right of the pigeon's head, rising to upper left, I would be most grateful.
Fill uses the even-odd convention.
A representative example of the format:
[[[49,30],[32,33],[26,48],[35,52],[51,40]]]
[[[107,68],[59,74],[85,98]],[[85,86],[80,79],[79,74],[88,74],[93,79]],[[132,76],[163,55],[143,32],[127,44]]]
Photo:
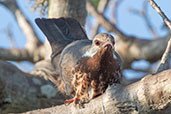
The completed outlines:
[[[153,63],[160,59],[167,46],[167,42],[170,38],[169,35],[165,38],[155,40],[145,40],[125,35],[115,24],[112,24],[108,19],[102,16],[89,0],[87,1],[87,7],[89,12],[98,18],[100,24],[108,32],[114,32],[116,37],[119,38],[116,42],[115,49],[123,60],[123,68],[131,68],[131,64],[135,60],[144,59]]]

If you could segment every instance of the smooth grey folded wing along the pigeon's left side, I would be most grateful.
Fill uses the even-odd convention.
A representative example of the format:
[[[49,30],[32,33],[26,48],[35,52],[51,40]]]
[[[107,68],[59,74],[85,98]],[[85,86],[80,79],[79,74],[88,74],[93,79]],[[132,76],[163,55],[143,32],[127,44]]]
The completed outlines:
[[[91,46],[90,40],[80,40],[67,45],[61,53],[59,60],[59,72],[61,79],[66,85],[66,93],[72,92],[72,68],[78,63],[82,55]]]

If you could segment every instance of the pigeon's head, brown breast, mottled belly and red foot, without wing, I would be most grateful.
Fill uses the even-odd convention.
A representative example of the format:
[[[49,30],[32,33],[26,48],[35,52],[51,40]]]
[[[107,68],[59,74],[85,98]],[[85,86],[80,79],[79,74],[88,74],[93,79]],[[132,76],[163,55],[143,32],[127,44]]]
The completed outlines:
[[[95,36],[92,46],[73,69],[74,98],[66,103],[82,105],[105,92],[108,85],[120,83],[121,70],[114,54],[114,38],[101,33]]]

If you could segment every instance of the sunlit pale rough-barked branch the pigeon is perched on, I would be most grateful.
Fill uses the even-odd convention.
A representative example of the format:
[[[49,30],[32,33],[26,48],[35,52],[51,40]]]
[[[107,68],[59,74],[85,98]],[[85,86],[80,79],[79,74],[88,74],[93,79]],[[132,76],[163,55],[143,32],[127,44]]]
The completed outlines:
[[[80,109],[61,105],[23,114],[169,114],[171,112],[171,70],[148,75],[128,85],[112,85]]]

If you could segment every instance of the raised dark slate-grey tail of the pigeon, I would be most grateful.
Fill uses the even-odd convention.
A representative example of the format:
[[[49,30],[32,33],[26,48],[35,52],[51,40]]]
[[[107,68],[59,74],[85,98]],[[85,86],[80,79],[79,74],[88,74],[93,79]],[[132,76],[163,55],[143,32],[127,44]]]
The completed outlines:
[[[69,43],[88,39],[80,23],[73,18],[37,18],[35,22],[51,45],[52,57],[58,55]]]

